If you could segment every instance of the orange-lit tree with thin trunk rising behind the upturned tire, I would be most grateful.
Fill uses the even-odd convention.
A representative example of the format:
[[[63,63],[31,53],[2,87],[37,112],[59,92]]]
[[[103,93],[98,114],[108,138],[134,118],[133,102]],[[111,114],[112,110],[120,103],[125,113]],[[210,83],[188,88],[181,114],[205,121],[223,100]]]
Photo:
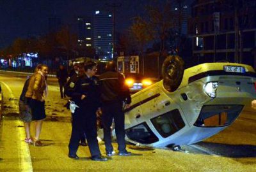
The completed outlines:
[[[135,22],[135,31],[140,31],[139,33],[141,33],[142,36],[145,35],[145,38],[152,36],[153,39],[159,39],[160,41],[159,55],[157,57],[158,78],[160,78],[161,75],[159,61],[166,48],[166,39],[170,36],[170,30],[176,26],[175,22],[177,21],[177,16],[173,13],[171,7],[172,4],[170,1],[162,1],[161,3],[152,1],[152,3],[145,8],[145,15],[143,17],[137,17],[137,21]],[[141,34],[137,32],[133,33],[134,35],[138,34],[137,38],[141,36]],[[145,40],[145,38],[142,40]],[[143,43],[143,41],[141,43]]]

